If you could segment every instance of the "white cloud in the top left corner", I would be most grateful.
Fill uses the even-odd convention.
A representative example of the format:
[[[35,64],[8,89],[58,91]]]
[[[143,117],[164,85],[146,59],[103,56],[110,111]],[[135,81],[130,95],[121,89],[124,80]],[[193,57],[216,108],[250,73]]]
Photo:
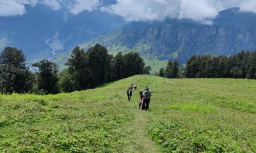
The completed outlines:
[[[0,17],[23,15],[26,12],[24,5],[15,1],[0,0]]]

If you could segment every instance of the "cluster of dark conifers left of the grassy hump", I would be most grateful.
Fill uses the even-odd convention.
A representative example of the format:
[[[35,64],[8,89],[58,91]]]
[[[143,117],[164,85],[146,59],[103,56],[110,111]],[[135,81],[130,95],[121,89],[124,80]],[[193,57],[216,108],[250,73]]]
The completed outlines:
[[[45,59],[32,65],[38,68],[33,73],[25,61],[22,50],[4,48],[0,54],[0,93],[56,94],[81,91],[132,75],[149,74],[150,71],[138,52],[125,55],[119,52],[114,57],[99,44],[87,51],[75,47],[66,62],[67,69],[60,73],[54,62]]]

